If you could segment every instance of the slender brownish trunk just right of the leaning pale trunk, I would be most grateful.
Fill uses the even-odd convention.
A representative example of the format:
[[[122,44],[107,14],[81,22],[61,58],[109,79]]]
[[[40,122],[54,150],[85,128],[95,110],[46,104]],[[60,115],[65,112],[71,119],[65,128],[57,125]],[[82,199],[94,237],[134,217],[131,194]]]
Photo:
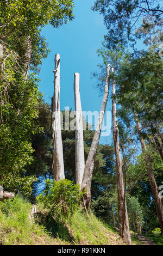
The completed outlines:
[[[114,72],[114,69],[111,69]],[[116,170],[117,170],[117,193],[118,193],[118,221],[120,226],[120,236],[123,241],[131,245],[128,212],[126,205],[126,187],[124,190],[123,182],[123,168],[122,168],[122,158],[121,149],[119,143],[119,130],[116,118],[116,102],[115,102],[115,80],[112,83],[112,132],[114,139],[114,149],[116,156]]]

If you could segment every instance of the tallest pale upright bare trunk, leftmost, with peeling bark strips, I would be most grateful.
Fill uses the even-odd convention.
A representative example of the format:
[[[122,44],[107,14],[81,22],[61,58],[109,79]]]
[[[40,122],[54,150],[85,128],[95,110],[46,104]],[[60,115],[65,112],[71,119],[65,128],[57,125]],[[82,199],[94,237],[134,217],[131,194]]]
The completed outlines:
[[[53,171],[54,179],[65,179],[60,118],[60,55],[55,54],[53,96]]]

